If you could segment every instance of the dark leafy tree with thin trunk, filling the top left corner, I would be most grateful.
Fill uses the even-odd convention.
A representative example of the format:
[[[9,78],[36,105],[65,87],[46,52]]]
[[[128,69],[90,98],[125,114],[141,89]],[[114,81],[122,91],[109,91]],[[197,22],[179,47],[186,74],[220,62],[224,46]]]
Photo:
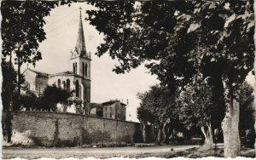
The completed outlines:
[[[20,66],[24,63],[36,65],[42,60],[42,54],[38,50],[39,43],[46,38],[44,32],[44,17],[49,15],[51,9],[70,2],[15,2],[4,1],[1,3],[2,10],[2,38],[3,57],[13,57],[18,66],[18,96],[20,96]]]

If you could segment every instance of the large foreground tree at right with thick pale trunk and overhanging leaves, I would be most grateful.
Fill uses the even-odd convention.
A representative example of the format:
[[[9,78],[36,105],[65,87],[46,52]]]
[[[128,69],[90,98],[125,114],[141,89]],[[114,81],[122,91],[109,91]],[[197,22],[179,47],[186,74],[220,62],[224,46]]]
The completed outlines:
[[[236,157],[240,155],[238,130],[240,107],[237,101],[241,83],[253,69],[253,3],[225,1],[195,3],[195,5],[202,5],[201,11],[195,14],[195,24],[201,24],[195,32],[203,37],[201,44],[207,49],[206,52],[201,53],[203,56],[201,68],[205,70],[203,71],[205,76],[213,77],[217,74],[224,83],[226,106],[222,123],[224,157]],[[214,14],[209,12],[211,9],[215,10]],[[207,18],[200,20],[202,16]],[[211,25],[213,22],[218,26]]]

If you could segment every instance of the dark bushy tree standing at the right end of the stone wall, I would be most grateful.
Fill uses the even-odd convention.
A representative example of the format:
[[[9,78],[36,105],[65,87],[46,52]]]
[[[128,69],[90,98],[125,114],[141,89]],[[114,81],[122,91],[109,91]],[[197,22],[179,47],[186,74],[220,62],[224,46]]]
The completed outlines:
[[[175,99],[169,89],[158,85],[152,86],[148,92],[138,94],[138,98],[142,102],[137,117],[143,123],[144,129],[147,123],[154,125],[155,143],[160,145],[169,139],[170,132],[169,136],[166,135],[168,124],[177,120],[176,112],[172,111],[175,108]]]

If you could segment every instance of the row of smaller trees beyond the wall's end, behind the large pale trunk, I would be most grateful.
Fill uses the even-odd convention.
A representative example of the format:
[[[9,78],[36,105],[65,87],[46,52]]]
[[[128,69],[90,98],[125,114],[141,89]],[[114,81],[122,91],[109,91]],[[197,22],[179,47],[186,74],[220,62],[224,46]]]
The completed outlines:
[[[253,87],[247,82],[243,83],[240,95],[241,133],[246,129],[253,129]],[[177,131],[190,138],[190,135],[198,134],[201,130],[204,144],[212,146],[213,139],[219,136],[221,121],[224,118],[224,111],[220,111],[216,106],[212,86],[206,82],[197,82],[171,100],[170,96],[171,91],[160,85],[152,86],[149,91],[138,94],[142,102],[137,109],[137,117],[143,123],[144,142],[148,142],[149,134],[146,128],[153,126],[154,141],[157,144],[169,143],[170,137],[175,136]],[[218,104],[221,103],[224,106],[224,101]]]

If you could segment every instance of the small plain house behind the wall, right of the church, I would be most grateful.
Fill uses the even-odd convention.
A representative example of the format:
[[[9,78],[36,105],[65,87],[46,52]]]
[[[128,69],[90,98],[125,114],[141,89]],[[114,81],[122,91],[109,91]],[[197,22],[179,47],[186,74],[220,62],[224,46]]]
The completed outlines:
[[[125,121],[126,105],[120,100],[110,100],[102,103],[102,115],[106,118]]]

